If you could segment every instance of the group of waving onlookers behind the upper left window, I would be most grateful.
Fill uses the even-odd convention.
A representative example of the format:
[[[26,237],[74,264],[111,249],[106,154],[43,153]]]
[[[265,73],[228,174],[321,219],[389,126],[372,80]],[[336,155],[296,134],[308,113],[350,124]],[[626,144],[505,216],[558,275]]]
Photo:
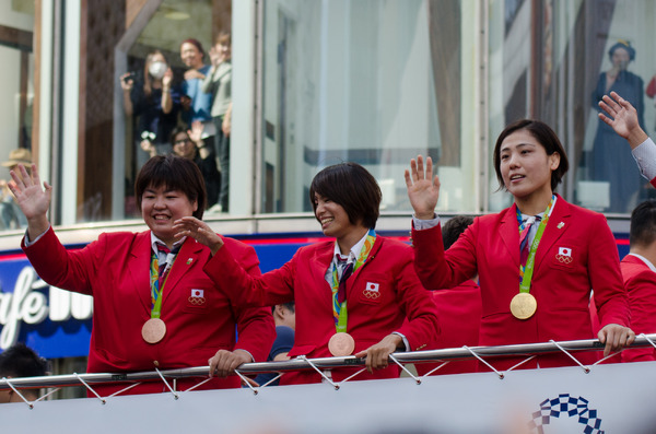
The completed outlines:
[[[134,120],[136,169],[154,155],[174,153],[192,160],[206,180],[208,212],[227,212],[230,33],[220,33],[208,54],[194,38],[185,39],[179,52],[184,73],[174,72],[164,52],[154,49],[142,73],[120,77],[125,113]]]

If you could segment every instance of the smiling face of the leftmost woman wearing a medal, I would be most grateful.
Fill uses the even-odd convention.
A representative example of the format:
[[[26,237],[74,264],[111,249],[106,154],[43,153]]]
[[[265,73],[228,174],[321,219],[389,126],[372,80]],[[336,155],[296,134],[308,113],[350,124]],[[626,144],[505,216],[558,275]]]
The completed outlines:
[[[197,209],[197,201],[190,201],[180,190],[167,190],[165,185],[151,185],[141,196],[143,221],[168,246],[176,241],[173,222],[192,215]]]

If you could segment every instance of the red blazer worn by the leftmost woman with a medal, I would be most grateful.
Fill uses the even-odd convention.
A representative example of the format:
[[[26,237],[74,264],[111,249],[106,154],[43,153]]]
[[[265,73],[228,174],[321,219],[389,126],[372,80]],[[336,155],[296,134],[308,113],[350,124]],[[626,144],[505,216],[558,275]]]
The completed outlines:
[[[224,238],[253,275],[259,275],[253,247]],[[256,361],[266,361],[276,337],[271,312],[265,308],[239,309],[216,290],[202,271],[210,249],[188,238],[171,268],[162,298],[162,320],[166,336],[155,344],[141,338],[141,327],[150,318],[150,231],[105,233],[81,250],[67,250],[52,228],[23,250],[38,275],[54,286],[93,295],[93,329],[89,350],[90,373],[118,373],[207,366],[220,349],[243,349]],[[202,290],[199,304],[191,292]],[[192,303],[197,302],[197,303]],[[235,325],[239,341],[235,338]],[[180,390],[198,378],[178,380]],[[213,379],[201,388],[239,387],[239,378]],[[122,386],[101,387],[112,394]],[[131,394],[163,391],[160,383],[143,384]]]

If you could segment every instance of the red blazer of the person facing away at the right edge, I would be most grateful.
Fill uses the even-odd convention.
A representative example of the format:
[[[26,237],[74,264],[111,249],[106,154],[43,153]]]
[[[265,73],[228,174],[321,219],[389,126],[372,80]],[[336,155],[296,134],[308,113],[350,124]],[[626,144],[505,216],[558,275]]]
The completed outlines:
[[[631,327],[635,335],[656,332],[656,273],[633,255],[626,255],[621,262],[624,288],[631,304]],[[652,347],[626,349],[621,353],[622,362],[656,360]]]

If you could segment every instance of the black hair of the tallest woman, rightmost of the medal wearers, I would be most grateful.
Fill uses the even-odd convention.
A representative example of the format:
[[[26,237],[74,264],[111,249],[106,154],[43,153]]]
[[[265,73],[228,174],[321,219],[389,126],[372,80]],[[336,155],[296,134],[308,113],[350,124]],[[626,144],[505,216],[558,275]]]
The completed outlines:
[[[567,161],[565,149],[551,127],[540,120],[535,119],[520,119],[514,121],[513,124],[508,125],[501,132],[501,134],[499,134],[496,144],[494,145],[494,171],[496,172],[499,188],[502,189],[505,187],[503,184],[503,177],[501,176],[501,144],[508,136],[519,130],[528,131],[538,141],[538,143],[544,148],[547,155],[553,155],[554,153],[560,155],[559,166],[555,168],[555,171],[551,172],[551,190],[555,190],[555,187],[558,187],[563,176],[565,176],[567,173],[567,169],[570,168],[570,162]]]

